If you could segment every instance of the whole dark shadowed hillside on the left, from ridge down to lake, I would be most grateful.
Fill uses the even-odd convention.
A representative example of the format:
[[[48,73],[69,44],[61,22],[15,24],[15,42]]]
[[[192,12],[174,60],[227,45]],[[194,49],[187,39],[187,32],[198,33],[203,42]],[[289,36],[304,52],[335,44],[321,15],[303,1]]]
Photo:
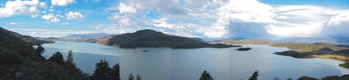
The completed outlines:
[[[76,68],[75,63],[48,61],[28,45],[32,41],[49,42],[0,30],[0,80],[89,80],[89,75]]]

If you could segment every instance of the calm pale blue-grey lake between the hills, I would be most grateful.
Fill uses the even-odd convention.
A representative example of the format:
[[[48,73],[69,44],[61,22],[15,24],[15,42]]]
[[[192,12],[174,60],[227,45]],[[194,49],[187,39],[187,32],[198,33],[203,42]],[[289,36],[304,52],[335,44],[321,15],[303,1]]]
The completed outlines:
[[[298,79],[302,76],[321,78],[327,75],[348,74],[339,67],[344,62],[331,59],[298,59],[272,53],[287,48],[268,45],[243,45],[250,51],[232,48],[117,48],[97,43],[55,41],[44,44],[44,56],[60,51],[67,56],[73,50],[74,62],[83,72],[92,74],[95,64],[106,58],[110,66],[120,63],[120,77],[127,79],[129,73],[141,74],[144,80],[197,80],[208,71],[215,80],[247,80],[258,69],[260,80],[274,77]],[[141,52],[148,50],[149,52]],[[134,53],[137,52],[137,53]],[[48,58],[48,57],[46,57]]]

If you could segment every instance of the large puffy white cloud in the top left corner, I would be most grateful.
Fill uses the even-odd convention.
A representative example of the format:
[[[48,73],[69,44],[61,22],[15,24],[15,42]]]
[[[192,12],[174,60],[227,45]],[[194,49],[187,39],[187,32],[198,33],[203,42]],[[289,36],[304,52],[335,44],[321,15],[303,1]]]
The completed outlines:
[[[0,17],[9,17],[14,15],[29,15],[38,17],[40,10],[37,8],[47,8],[47,4],[39,0],[32,1],[7,1],[5,7],[0,8]]]

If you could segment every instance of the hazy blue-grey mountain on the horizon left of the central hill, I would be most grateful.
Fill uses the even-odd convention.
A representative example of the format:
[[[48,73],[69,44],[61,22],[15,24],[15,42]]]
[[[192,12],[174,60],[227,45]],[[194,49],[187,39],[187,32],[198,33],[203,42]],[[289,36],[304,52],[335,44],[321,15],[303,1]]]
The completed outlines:
[[[106,33],[87,33],[87,34],[69,34],[65,37],[58,37],[62,39],[87,39],[87,38],[102,38],[107,37],[110,34]]]

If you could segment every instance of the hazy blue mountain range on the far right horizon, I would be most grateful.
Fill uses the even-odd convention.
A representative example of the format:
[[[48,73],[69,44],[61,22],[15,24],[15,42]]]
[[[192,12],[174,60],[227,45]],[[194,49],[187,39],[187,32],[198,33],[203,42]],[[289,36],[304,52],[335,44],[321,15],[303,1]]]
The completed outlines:
[[[291,37],[291,38],[277,40],[277,42],[328,43],[332,45],[348,45],[346,41],[342,41],[342,40],[334,39],[330,37],[315,37],[315,38]]]

